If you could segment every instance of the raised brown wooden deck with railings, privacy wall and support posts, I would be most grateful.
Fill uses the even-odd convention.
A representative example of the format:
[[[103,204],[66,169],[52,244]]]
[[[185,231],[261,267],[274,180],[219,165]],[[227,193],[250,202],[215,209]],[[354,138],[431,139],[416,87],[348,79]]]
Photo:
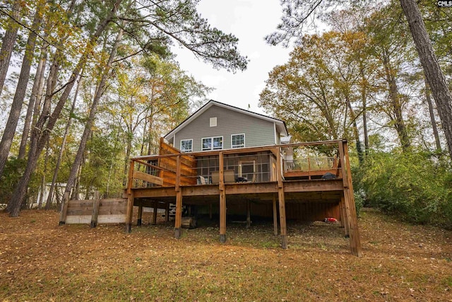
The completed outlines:
[[[301,163],[292,161],[291,168],[287,168],[283,162],[285,149],[309,148],[319,144],[333,146],[338,151],[337,158],[324,161],[328,162],[326,165],[317,158],[315,161],[318,164],[314,168],[311,168],[311,162],[314,161],[308,160],[306,161],[308,170],[306,165],[304,168],[297,168],[302,166]],[[213,163],[212,166],[201,167],[202,158],[208,158]],[[251,172],[244,171],[240,158],[245,158],[243,162],[246,160]],[[253,158],[256,159],[252,160]],[[225,175],[230,173],[226,171],[233,171],[237,182],[234,182],[234,178],[232,182],[228,182]],[[327,172],[335,175],[335,178],[321,179]],[[211,183],[211,178],[206,173],[216,175],[215,181],[218,183]],[[243,175],[249,177],[244,178]],[[250,175],[253,175],[252,180]],[[321,141],[184,154],[161,141],[160,155],[131,159],[126,193],[129,200],[127,231],[131,230],[134,206],[138,207],[137,221],[140,222],[143,207],[168,211],[169,204],[176,204],[174,236],[180,238],[182,205],[207,206],[210,209],[210,216],[213,207],[218,210],[220,241],[225,242],[227,213],[230,214],[234,210],[234,205],[246,208],[249,221],[249,204],[253,202],[262,204],[263,209],[270,209],[275,224],[275,235],[280,234],[283,248],[287,248],[287,216],[294,218],[293,216],[298,213],[300,217],[303,215],[304,219],[318,220],[319,217],[331,216],[328,214],[333,213],[344,227],[345,235],[350,236],[352,254],[361,255],[346,141]],[[307,204],[309,208],[306,207]],[[257,209],[258,206],[254,208]],[[286,208],[289,211],[288,215]],[[166,217],[168,216],[167,214]],[[155,217],[153,219],[155,221]]]

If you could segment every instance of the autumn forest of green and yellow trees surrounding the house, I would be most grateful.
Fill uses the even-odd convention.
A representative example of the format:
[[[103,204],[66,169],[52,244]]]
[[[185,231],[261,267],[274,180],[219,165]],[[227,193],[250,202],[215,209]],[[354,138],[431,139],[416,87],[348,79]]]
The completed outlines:
[[[179,67],[171,45],[218,69],[246,69],[237,38],[211,27],[197,2],[0,4],[0,203],[11,216],[37,200],[57,207],[60,183],[74,197],[121,194],[130,156],[157,153],[160,137],[207,101],[211,88]],[[451,228],[446,110],[403,2],[414,4],[281,1],[266,40],[293,50],[259,104],[287,122],[292,141],[350,141],[357,207]],[[450,87],[452,8],[417,7]]]

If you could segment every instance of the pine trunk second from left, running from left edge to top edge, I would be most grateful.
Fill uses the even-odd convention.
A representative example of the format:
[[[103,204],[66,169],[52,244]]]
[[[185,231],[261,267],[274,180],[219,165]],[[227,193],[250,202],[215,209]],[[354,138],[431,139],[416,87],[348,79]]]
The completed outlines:
[[[3,137],[0,141],[0,177],[3,175],[6,160],[8,159],[11,144],[13,144],[14,134],[16,134],[16,127],[20,117],[20,110],[22,109],[23,99],[27,91],[28,80],[30,79],[30,69],[35,55],[35,45],[37,34],[35,30],[42,21],[42,7],[43,1],[40,1],[36,8],[35,17],[33,18],[32,28],[28,35],[27,45],[25,47],[25,54],[23,56],[22,68],[20,69],[20,76],[14,93],[13,103],[9,112],[8,121],[4,129]]]

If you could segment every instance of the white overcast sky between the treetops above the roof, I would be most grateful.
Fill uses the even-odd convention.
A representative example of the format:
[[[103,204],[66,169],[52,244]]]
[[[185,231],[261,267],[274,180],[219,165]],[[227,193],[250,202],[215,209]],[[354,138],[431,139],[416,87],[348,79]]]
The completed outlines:
[[[198,12],[210,25],[239,38],[238,50],[249,59],[245,71],[236,74],[215,70],[183,49],[174,49],[182,69],[206,86],[215,88],[209,99],[238,108],[264,113],[258,108],[259,93],[265,87],[268,72],[285,64],[290,50],[268,45],[264,37],[280,22],[279,0],[202,0]]]

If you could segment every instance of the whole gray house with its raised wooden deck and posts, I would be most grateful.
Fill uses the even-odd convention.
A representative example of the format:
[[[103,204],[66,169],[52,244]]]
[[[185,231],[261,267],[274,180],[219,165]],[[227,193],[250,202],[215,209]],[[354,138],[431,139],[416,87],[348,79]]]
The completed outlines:
[[[286,219],[336,217],[350,236],[352,253],[360,255],[347,141],[291,144],[282,120],[213,100],[165,139],[158,155],[131,158],[128,231],[134,206],[138,223],[143,207],[153,207],[155,223],[157,209],[165,209],[168,219],[169,205],[175,204],[176,238],[187,206],[218,217],[222,242],[227,215],[246,215],[247,225],[251,213],[273,216],[274,233],[287,248]]]

